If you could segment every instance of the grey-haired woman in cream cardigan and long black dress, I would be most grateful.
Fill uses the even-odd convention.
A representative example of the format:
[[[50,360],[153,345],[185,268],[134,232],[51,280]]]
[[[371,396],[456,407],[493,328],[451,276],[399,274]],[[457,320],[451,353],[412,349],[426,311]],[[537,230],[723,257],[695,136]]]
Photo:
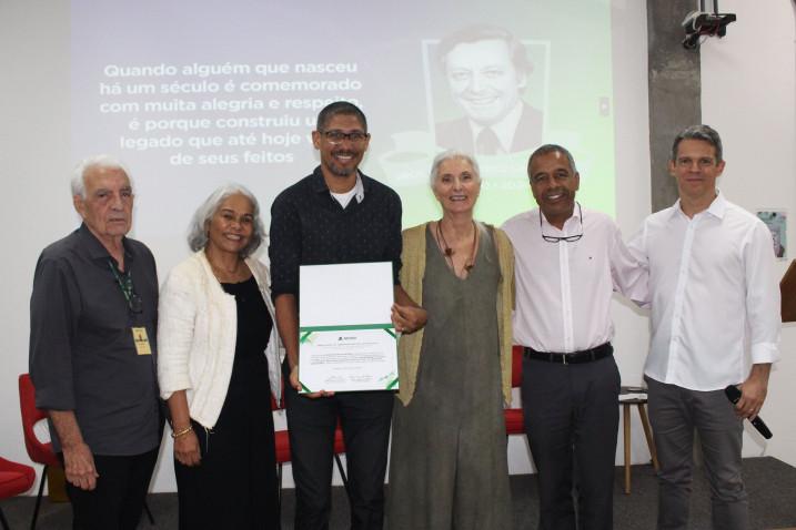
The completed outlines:
[[[271,394],[281,344],[254,195],[215,190],[160,294],[158,380],[171,412],[181,529],[280,528]]]

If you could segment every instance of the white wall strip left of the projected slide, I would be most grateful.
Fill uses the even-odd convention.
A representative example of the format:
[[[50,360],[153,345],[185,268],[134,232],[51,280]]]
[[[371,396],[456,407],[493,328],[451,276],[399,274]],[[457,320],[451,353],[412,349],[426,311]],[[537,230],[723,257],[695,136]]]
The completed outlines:
[[[28,462],[17,377],[41,248],[75,226],[69,154],[69,2],[0,2],[0,455]],[[40,473],[37,473],[40,475]]]

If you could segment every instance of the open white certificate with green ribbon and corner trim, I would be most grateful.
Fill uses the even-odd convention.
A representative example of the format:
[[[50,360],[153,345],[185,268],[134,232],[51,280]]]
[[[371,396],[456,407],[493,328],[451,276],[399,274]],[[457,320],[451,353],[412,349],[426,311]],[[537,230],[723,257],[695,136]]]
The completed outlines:
[[[397,390],[392,263],[302,265],[302,393]]]

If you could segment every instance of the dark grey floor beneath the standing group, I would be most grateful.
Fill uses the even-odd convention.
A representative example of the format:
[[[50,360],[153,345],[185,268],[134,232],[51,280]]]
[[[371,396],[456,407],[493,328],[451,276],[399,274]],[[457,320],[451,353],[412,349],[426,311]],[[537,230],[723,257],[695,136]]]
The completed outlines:
[[[744,460],[744,480],[749,492],[753,530],[770,530],[796,527],[796,468],[774,458],[749,458]],[[616,530],[651,530],[655,528],[657,513],[657,486],[651,466],[633,467],[633,491],[625,496],[623,468],[616,468],[614,495],[614,528]],[[342,488],[334,488],[334,506],[331,529],[349,528],[347,500]],[[514,499],[514,520],[516,529],[535,529],[538,518],[536,482],[532,475],[512,477]],[[8,499],[0,503],[11,529],[30,527],[33,513],[33,498]],[[177,496],[174,493],[153,493],[149,496],[149,506],[155,518],[155,526],[148,521],[140,530],[151,528],[177,528]],[[283,495],[283,528],[292,528],[294,497],[292,490]],[[68,503],[42,502],[39,529],[68,530],[71,528],[71,510]],[[711,529],[711,507],[707,485],[702,475],[694,483],[692,498],[692,529]],[[420,529],[419,529],[420,530]]]

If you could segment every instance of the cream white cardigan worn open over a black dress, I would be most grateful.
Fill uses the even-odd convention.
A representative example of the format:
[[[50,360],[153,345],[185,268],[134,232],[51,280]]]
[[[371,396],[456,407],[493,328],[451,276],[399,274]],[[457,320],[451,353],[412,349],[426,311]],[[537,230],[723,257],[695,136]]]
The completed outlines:
[[[279,401],[284,348],[276,332],[268,268],[256,259],[245,263],[273,320],[265,356],[271,391]],[[226,398],[236,334],[235,297],[224,292],[204,251],[199,251],[169,273],[160,292],[158,383],[163,399],[185,390],[191,418],[206,428],[215,425]]]

